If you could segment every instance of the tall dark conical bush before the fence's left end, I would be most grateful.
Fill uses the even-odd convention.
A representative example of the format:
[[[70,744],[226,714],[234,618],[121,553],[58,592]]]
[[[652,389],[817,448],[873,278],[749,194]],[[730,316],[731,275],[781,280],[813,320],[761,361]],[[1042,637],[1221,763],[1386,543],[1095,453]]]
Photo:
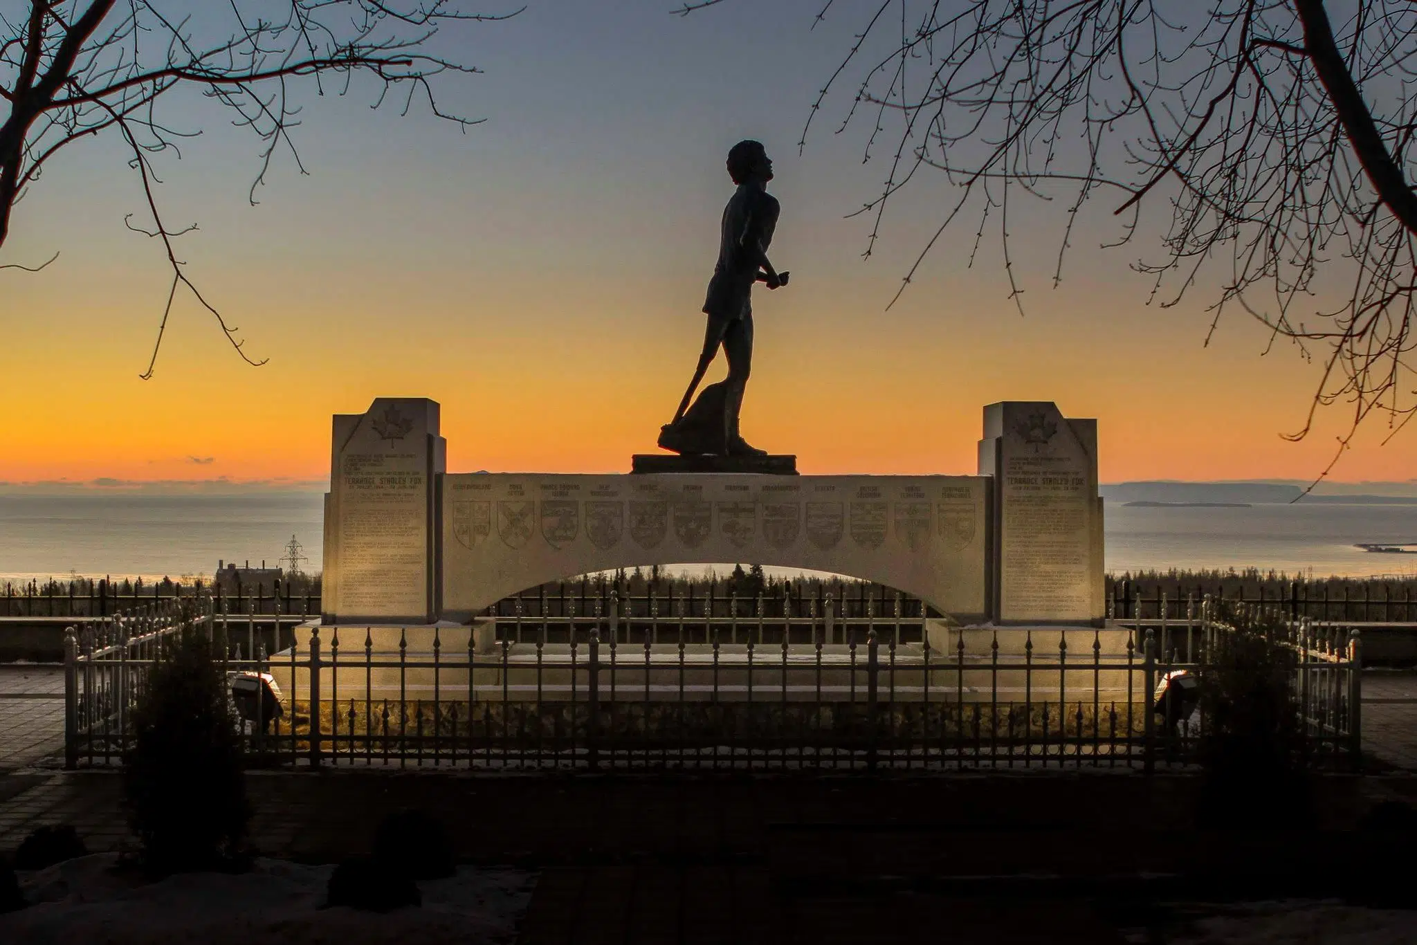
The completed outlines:
[[[123,796],[143,863],[159,873],[230,866],[251,816],[237,721],[211,647],[166,647],[133,707]]]

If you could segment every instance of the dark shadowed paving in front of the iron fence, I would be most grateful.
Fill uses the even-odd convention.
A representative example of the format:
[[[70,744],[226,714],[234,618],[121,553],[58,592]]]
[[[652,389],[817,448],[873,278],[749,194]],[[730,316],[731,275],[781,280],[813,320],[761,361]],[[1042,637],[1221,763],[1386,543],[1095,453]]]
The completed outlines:
[[[1323,779],[1312,819],[1255,833],[1195,829],[1195,778],[1132,774],[324,771],[248,786],[264,854],[366,851],[387,812],[418,806],[465,861],[540,870],[523,942],[1161,942],[1187,921],[1173,902],[1417,904],[1411,839],[1355,830],[1376,799],[1417,800],[1410,776]],[[116,775],[0,776],[0,850],[52,822],[95,850],[132,846]]]

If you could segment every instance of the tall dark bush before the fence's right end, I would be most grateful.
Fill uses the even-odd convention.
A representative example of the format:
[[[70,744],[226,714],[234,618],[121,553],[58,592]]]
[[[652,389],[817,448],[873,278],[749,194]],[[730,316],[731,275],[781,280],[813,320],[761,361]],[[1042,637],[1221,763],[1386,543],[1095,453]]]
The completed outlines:
[[[1298,657],[1280,618],[1230,612],[1200,673],[1202,813],[1214,826],[1278,826],[1309,809]]]

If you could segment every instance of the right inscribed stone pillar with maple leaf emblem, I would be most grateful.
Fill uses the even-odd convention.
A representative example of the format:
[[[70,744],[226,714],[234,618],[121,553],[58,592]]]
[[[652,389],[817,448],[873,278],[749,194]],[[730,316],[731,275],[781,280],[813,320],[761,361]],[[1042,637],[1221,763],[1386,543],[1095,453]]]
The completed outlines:
[[[993,476],[993,619],[1101,625],[1097,421],[1063,417],[1051,401],[989,404],[979,473]]]

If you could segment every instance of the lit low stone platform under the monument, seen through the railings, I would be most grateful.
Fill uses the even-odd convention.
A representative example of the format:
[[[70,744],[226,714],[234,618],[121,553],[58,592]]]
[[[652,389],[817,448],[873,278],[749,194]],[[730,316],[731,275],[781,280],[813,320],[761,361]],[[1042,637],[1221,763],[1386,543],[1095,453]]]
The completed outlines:
[[[490,618],[480,618],[472,626],[322,626],[320,698],[341,703],[587,698],[591,674],[587,642],[574,650],[565,643],[503,646],[495,639],[495,629]],[[313,630],[313,623],[296,628],[295,653],[283,650],[271,657],[271,674],[286,697],[292,691],[298,700],[309,696]],[[1029,700],[1056,706],[1060,698],[1068,704],[1091,704],[1095,698],[1121,704],[1145,690],[1141,660],[1135,656],[1128,660],[1121,630],[1047,628],[1046,636],[1032,636],[1032,652],[1026,650],[1027,632],[1002,632],[999,649],[993,650],[990,630],[966,629],[961,652],[958,629],[932,626],[931,630],[928,657],[918,643],[903,643],[891,652],[888,638],[880,638],[876,673],[881,701]],[[1063,640],[1067,647],[1058,646]],[[854,647],[795,643],[786,652],[781,643],[751,649],[747,643],[680,647],[672,639],[660,639],[648,647],[643,642],[611,647],[605,640],[598,646],[597,667],[601,697],[615,701],[857,701],[866,698],[870,679],[864,640]],[[1064,672],[1066,680],[1060,679]]]

